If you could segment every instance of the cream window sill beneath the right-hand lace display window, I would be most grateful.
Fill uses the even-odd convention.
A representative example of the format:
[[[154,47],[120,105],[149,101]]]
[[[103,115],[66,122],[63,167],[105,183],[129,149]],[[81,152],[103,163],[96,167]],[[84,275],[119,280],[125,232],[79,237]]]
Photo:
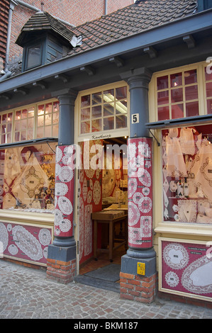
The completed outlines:
[[[212,237],[212,225],[197,225],[196,223],[160,223],[155,229],[156,233],[174,235],[206,236]]]

